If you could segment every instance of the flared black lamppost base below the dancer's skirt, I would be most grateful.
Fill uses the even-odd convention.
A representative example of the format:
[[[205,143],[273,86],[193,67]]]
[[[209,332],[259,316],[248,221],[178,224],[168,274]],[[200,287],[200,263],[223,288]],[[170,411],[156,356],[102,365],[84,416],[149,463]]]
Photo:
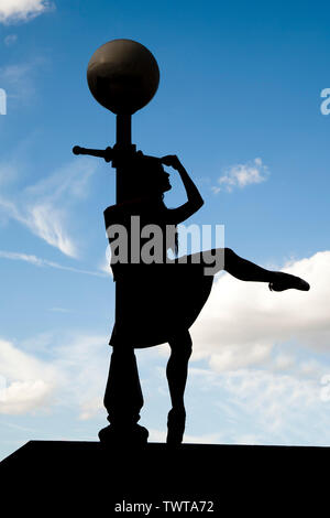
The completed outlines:
[[[138,424],[143,396],[133,347],[116,346],[105,393],[110,427],[99,432],[101,442],[146,442],[147,430]]]

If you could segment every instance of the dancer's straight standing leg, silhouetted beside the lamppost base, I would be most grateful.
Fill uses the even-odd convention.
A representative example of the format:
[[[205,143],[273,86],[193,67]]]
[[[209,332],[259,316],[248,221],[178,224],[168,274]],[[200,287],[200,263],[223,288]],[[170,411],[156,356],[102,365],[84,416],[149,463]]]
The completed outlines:
[[[170,342],[170,357],[167,363],[166,376],[168,380],[172,410],[168,413],[167,443],[180,444],[185,431],[185,388],[188,375],[188,361],[191,355],[191,337],[187,331],[179,333]]]

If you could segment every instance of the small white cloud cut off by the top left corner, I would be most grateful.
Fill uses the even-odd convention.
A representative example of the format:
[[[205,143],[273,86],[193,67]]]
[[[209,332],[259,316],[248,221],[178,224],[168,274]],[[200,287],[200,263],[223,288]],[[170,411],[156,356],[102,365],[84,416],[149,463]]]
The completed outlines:
[[[1,0],[0,23],[29,22],[50,9],[54,3],[47,0]]]

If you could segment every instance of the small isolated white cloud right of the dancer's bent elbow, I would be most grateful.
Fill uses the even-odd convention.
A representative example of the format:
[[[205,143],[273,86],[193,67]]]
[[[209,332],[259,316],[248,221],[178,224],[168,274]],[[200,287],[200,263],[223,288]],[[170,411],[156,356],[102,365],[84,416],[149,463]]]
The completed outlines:
[[[220,191],[231,192],[234,187],[243,188],[253,183],[264,182],[268,174],[268,169],[263,164],[262,159],[256,158],[252,163],[235,164],[229,168],[211,190],[215,194]]]

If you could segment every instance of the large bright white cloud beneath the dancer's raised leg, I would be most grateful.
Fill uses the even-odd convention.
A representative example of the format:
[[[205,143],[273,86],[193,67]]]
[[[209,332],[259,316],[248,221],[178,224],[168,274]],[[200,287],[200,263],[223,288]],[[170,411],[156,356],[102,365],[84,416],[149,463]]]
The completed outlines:
[[[318,361],[308,361],[307,368],[302,357],[298,364],[290,352],[283,356],[278,350],[275,360],[274,354],[276,345],[293,342],[315,355],[329,350],[329,266],[330,251],[322,251],[283,269],[306,279],[309,292],[271,292],[266,283],[242,282],[223,273],[191,328],[195,358],[209,358],[218,373],[255,366],[315,373]]]

